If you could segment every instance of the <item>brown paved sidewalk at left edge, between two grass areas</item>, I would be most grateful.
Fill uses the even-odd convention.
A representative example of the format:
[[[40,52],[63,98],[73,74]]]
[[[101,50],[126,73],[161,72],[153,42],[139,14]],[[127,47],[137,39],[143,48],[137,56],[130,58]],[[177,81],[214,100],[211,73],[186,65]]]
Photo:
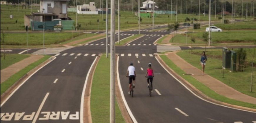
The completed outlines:
[[[7,68],[1,70],[1,83],[4,82],[6,79],[11,77],[16,72],[20,71],[21,69],[25,68],[29,64],[36,62],[37,60],[41,59],[44,56],[41,55],[31,55],[26,59],[23,59],[15,64],[8,66]]]

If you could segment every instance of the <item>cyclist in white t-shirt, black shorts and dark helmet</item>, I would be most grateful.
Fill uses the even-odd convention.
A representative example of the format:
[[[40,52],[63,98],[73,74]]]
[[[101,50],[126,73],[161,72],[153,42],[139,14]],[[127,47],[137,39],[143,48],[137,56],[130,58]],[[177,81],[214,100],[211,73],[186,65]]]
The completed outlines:
[[[129,75],[129,76],[128,76]],[[135,67],[133,66],[133,63],[130,62],[130,66],[127,69],[127,73],[126,76],[129,77],[129,92],[128,94],[130,94],[130,87],[132,86],[132,80],[133,80],[133,88],[135,87],[135,78],[136,78],[136,72],[135,72]]]

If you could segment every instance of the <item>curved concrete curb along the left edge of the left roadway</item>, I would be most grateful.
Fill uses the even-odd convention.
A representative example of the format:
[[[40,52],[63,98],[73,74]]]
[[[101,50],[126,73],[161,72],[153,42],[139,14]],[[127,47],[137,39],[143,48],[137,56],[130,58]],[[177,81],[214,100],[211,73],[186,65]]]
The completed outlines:
[[[13,93],[13,91],[21,85],[21,83],[23,83],[24,81],[26,81],[28,78],[30,78],[31,75],[33,75],[34,73],[36,73],[38,70],[40,70],[42,67],[44,67],[44,65],[50,63],[51,61],[53,61],[56,57],[51,56],[49,59],[47,59],[46,61],[44,61],[43,63],[39,64],[38,66],[36,66],[35,68],[33,68],[32,70],[30,70],[28,73],[26,73],[24,76],[22,76],[18,81],[16,81],[10,88],[8,88],[2,95],[1,95],[1,104],[8,98],[9,95],[11,95],[11,93]]]

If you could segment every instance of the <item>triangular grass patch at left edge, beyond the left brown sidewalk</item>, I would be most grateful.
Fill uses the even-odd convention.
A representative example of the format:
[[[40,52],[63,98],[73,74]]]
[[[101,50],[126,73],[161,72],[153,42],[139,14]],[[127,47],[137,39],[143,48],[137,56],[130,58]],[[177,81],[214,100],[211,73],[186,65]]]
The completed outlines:
[[[4,59],[4,54],[1,53],[1,70],[5,69],[6,67],[19,62],[23,59],[26,59],[30,57],[30,55],[25,55],[25,54],[6,54],[5,53],[5,59]]]

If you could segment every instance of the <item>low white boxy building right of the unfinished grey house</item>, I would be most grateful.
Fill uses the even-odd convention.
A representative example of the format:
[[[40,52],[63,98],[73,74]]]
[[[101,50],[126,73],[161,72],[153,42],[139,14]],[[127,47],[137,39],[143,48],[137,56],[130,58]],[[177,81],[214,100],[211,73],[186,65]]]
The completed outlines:
[[[78,14],[98,14],[96,10],[95,2],[90,2],[89,4],[77,6]]]

